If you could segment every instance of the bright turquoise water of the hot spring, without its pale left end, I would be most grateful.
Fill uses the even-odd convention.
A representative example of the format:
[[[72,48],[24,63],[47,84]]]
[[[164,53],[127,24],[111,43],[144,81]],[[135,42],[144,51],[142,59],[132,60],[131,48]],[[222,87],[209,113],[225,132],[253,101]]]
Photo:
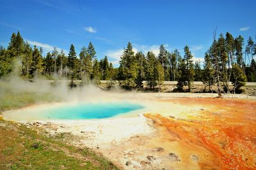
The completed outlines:
[[[44,115],[49,119],[56,120],[102,119],[142,108],[142,105],[126,102],[76,104],[44,109]]]

